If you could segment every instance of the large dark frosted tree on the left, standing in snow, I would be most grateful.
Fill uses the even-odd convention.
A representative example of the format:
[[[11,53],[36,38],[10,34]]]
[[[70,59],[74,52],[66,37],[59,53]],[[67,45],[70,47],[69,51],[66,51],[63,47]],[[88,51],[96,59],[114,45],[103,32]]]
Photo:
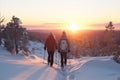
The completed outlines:
[[[19,49],[27,51],[28,33],[20,24],[20,19],[13,16],[4,29],[5,47],[10,52],[14,50],[16,54]]]

